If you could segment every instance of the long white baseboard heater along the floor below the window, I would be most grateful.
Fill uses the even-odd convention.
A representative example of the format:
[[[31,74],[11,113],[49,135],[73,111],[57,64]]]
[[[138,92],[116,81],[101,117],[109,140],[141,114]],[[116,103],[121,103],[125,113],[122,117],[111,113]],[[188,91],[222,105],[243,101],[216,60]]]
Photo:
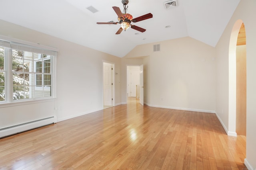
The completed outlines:
[[[50,124],[56,123],[56,122],[57,122],[56,116],[51,116],[51,117],[46,117],[46,118],[43,118],[43,119],[38,119],[38,120],[26,122],[26,123],[21,123],[21,124],[18,124],[18,125],[4,127],[2,129],[0,129],[0,138],[7,137],[7,136],[10,136],[10,135],[14,135],[16,133],[21,133],[21,132],[24,132],[24,131],[28,131],[28,130],[31,130],[31,129],[35,129],[35,128],[38,128],[38,127],[42,127],[42,126],[45,126],[45,125],[50,125]]]

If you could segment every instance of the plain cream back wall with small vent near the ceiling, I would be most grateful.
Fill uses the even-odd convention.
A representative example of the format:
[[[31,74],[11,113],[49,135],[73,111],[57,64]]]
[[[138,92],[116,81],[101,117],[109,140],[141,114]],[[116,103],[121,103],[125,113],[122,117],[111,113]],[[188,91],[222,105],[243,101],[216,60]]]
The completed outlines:
[[[126,58],[144,59],[145,103],[149,106],[215,112],[215,49],[190,37],[134,48]],[[148,80],[150,77],[150,80]],[[150,87],[147,87],[150,84]],[[149,97],[149,96],[150,97]]]

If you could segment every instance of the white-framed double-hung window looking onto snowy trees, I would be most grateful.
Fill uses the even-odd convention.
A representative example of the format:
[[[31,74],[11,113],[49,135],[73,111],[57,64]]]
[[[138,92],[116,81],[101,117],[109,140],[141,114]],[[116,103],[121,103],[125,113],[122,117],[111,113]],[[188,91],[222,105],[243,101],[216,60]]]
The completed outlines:
[[[56,51],[0,39],[0,104],[54,98],[55,62]]]

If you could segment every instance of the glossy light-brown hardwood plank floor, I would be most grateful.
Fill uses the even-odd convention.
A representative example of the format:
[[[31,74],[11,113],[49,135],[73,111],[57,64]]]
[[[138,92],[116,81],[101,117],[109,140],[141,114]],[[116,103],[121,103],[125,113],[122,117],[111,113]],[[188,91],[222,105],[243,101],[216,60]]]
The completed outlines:
[[[141,106],[136,99],[0,139],[0,169],[242,170],[246,137],[213,113]]]

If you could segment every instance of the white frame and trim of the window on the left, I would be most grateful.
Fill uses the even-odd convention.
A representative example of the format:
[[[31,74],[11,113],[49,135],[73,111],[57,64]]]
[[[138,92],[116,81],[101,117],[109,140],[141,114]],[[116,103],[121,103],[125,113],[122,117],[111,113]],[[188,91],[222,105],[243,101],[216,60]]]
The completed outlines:
[[[10,44],[10,45],[9,45]],[[34,53],[39,53],[39,54],[44,54],[50,57],[43,57],[42,55],[42,60],[49,60],[50,59],[50,75],[51,75],[51,87],[43,87],[45,91],[49,91],[47,88],[51,88],[51,95],[46,96],[46,97],[33,97],[33,98],[27,98],[27,99],[19,99],[19,100],[14,100],[13,99],[13,76],[12,74],[14,73],[12,71],[12,49],[17,50],[15,48],[12,48],[12,44],[14,44],[14,47],[21,47],[22,51],[27,51],[27,52],[34,52]],[[27,41],[22,41],[18,39],[13,39],[10,37],[5,37],[0,35],[0,47],[5,48],[5,53],[4,53],[4,70],[1,70],[1,72],[5,73],[5,100],[0,101],[0,107],[9,107],[9,106],[16,106],[16,105],[23,105],[23,104],[30,104],[30,103],[38,103],[38,102],[47,102],[47,101],[52,101],[56,99],[56,58],[57,58],[57,52],[58,49],[53,48],[53,47],[47,47],[43,46],[40,44],[34,44],[30,43]],[[31,51],[24,50],[22,49],[24,47],[25,49],[32,49]],[[33,51],[34,50],[34,51]],[[8,51],[8,53],[6,53]],[[44,53],[46,51],[46,53]],[[52,55],[54,54],[54,55]],[[44,68],[42,68],[44,69]],[[26,73],[26,72],[22,72]],[[36,75],[36,72],[33,72],[34,75]],[[41,73],[42,74],[42,73]],[[42,74],[44,75],[44,74]],[[34,80],[36,81],[36,80]],[[34,82],[36,83],[36,82]],[[36,87],[36,85],[35,85]]]

